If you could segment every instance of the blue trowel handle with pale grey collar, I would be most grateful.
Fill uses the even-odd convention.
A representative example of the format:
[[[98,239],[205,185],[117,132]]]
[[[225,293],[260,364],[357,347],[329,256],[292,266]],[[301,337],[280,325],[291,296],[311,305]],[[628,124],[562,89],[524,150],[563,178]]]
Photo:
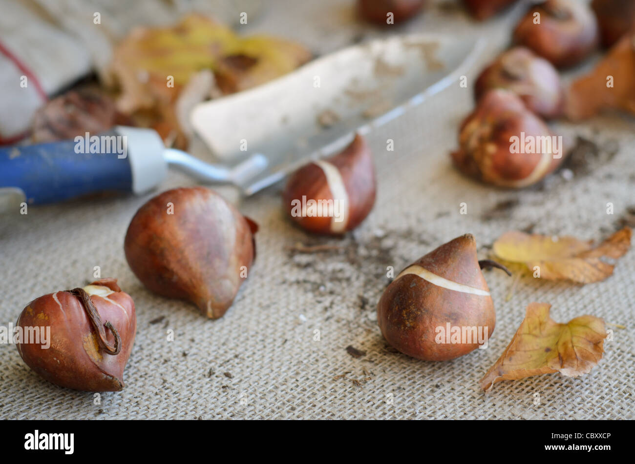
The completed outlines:
[[[84,136],[0,148],[0,188],[20,188],[29,204],[37,204],[104,192],[142,193],[163,181],[166,163],[156,132],[117,127],[88,138],[88,143]],[[98,153],[90,153],[91,143]]]

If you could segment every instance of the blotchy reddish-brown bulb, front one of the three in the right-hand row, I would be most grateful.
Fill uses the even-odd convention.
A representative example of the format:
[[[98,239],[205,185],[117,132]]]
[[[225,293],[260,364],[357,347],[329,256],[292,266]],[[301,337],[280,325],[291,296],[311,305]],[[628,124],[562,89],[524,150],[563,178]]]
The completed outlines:
[[[565,159],[563,146],[559,153],[553,146],[544,153],[522,153],[522,146],[527,146],[523,140],[546,137],[553,140],[549,127],[518,95],[490,90],[461,125],[459,149],[451,157],[466,176],[500,187],[523,188],[544,179]],[[514,147],[512,138],[518,138],[519,146]]]

